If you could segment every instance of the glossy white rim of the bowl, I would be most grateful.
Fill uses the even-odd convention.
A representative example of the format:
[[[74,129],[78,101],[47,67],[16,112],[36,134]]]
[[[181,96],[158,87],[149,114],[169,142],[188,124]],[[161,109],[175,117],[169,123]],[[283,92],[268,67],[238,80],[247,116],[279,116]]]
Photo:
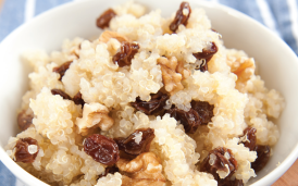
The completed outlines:
[[[11,40],[11,38],[15,37],[16,35],[18,35],[20,33],[22,33],[23,29],[26,29],[26,27],[29,27],[32,24],[35,24],[36,21],[38,20],[42,20],[46,16],[49,16],[50,14],[53,14],[54,12],[59,12],[60,10],[63,9],[67,9],[69,7],[72,5],[76,5],[76,4],[80,4],[80,3],[89,3],[90,1],[97,1],[97,0],[75,0],[75,1],[69,1],[66,3],[60,4],[58,7],[51,8],[42,13],[40,13],[39,15],[33,17],[32,20],[29,20],[26,23],[23,23],[22,25],[20,25],[17,28],[15,28],[12,33],[10,33],[1,42],[0,42],[0,50],[3,48],[3,46],[5,45],[5,42],[8,42],[9,40]],[[138,2],[138,0],[135,0],[136,2]],[[272,37],[275,37],[275,39],[278,40],[278,42],[281,45],[283,45],[282,47],[286,48],[287,50],[289,50],[289,52],[291,53],[293,57],[295,57],[297,60],[296,62],[298,62],[298,58],[296,55],[296,53],[293,51],[293,49],[281,38],[278,37],[273,30],[269,29],[268,27],[265,27],[263,24],[261,24],[260,22],[253,20],[252,17],[233,9],[229,7],[226,7],[224,4],[220,4],[218,2],[213,2],[213,1],[195,1],[195,0],[189,0],[190,3],[200,5],[201,9],[204,8],[211,8],[211,9],[218,9],[220,11],[226,12],[237,18],[241,18],[244,21],[248,21],[251,22],[253,25],[261,27],[262,29],[264,29],[264,32],[269,33],[270,35],[272,35]],[[0,141],[1,144],[1,141]],[[21,166],[18,166],[4,151],[3,149],[3,145],[1,144],[0,146],[0,160],[2,161],[2,163],[14,174],[14,176],[18,179],[21,179],[22,182],[29,184],[29,185],[40,185],[40,186],[49,186],[48,184],[46,184],[45,182],[38,179],[37,177],[33,176],[32,174],[29,174],[28,172],[26,172],[25,170],[23,170]],[[285,160],[283,162],[281,162],[280,165],[277,165],[277,168],[275,168],[274,170],[272,170],[269,174],[266,174],[265,176],[263,176],[262,178],[260,178],[259,181],[257,181],[256,183],[251,184],[251,186],[263,186],[263,185],[268,185],[269,183],[273,183],[276,179],[278,179],[291,165],[293,163],[296,161],[298,157],[298,141],[296,144],[296,147],[293,148],[293,150],[290,151],[290,153],[288,153],[288,156],[285,158]]]

